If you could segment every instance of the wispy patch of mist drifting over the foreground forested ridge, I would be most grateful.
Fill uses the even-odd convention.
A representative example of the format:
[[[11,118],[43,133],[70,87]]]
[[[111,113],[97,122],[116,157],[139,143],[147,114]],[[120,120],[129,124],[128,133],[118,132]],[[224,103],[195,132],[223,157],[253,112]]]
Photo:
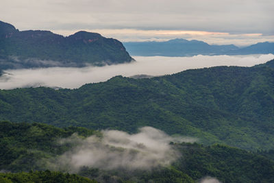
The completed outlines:
[[[141,127],[137,134],[118,130],[103,130],[102,137],[82,139],[77,135],[60,140],[60,144],[76,145],[57,159],[49,160],[50,169],[77,172],[81,167],[112,169],[142,169],[167,166],[180,154],[170,142],[195,141],[195,138],[171,137],[153,127]]]

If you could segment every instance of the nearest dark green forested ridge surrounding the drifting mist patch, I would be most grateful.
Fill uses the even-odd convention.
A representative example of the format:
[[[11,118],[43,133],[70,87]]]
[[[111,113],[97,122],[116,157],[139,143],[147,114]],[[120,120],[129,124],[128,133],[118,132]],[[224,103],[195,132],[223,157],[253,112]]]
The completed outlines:
[[[58,159],[69,149],[75,146],[77,148],[77,143],[73,143],[75,132],[82,140],[92,134],[101,136],[99,132],[83,127],[58,128],[42,123],[0,121],[0,169],[19,172],[0,173],[0,181],[16,179],[38,182],[37,180],[45,181],[47,178],[52,182],[92,182],[87,179],[90,178],[98,182],[197,182],[206,176],[217,178],[221,182],[274,181],[274,161],[266,156],[225,145],[203,146],[197,143],[171,143],[171,147],[182,156],[167,167],[155,167],[151,170],[111,171],[82,167],[77,175],[46,170],[47,160]],[[70,139],[71,143],[58,143],[64,138]],[[112,150],[115,148],[118,147],[112,147]],[[119,147],[119,151],[123,151],[123,148]]]

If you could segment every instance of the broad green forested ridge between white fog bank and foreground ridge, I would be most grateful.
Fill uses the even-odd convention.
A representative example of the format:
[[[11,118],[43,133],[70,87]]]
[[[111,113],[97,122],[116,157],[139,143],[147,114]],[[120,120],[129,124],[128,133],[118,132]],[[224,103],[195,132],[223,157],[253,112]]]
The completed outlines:
[[[0,120],[168,134],[242,149],[274,149],[274,69],[216,66],[144,79],[113,77],[69,90],[0,90]]]

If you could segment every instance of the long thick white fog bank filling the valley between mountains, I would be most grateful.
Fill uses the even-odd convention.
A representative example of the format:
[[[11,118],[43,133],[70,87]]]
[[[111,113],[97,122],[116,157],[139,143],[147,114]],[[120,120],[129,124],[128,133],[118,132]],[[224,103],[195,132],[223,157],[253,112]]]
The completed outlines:
[[[83,84],[105,82],[116,75],[166,75],[187,69],[210,66],[253,66],[274,58],[273,54],[249,56],[142,57],[136,62],[84,68],[52,67],[47,69],[8,70],[0,77],[0,89],[28,86],[79,88]]]

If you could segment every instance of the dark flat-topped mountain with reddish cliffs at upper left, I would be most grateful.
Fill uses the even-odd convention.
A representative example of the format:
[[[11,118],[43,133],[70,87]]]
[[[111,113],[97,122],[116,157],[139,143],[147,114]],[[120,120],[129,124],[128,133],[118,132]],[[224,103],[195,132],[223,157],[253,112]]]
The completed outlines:
[[[49,31],[19,31],[0,21],[1,69],[86,66],[131,62],[119,40],[80,31],[60,36]]]

